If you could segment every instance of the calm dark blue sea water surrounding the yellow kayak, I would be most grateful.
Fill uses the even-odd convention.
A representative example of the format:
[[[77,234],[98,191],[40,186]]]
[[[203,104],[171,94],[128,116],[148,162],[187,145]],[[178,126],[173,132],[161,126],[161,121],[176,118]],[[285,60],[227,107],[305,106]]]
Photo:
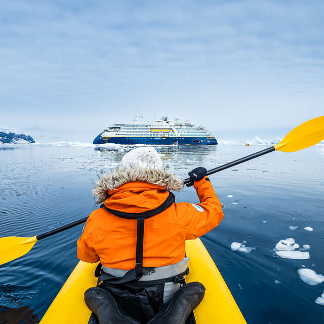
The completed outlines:
[[[89,215],[97,175],[131,149],[61,145],[0,145],[0,236],[33,236]],[[182,178],[197,166],[211,169],[263,148],[156,147]],[[324,306],[314,301],[324,282],[307,285],[297,270],[324,275],[324,145],[270,153],[210,178],[225,218],[202,239],[248,323],[323,322]],[[198,202],[192,187],[176,196]],[[24,257],[0,266],[0,323],[42,318],[78,261],[81,231],[82,225],[39,241]],[[310,245],[310,259],[276,256],[276,243],[290,237]],[[232,242],[253,250],[231,251]]]

